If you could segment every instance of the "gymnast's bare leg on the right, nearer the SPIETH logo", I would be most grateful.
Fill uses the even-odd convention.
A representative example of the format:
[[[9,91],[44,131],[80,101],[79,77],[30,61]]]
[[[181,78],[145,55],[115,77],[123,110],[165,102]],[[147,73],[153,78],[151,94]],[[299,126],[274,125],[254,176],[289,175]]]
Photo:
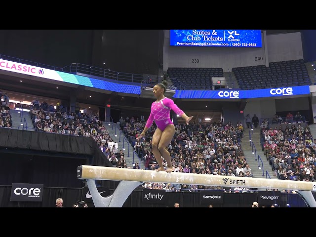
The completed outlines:
[[[157,131],[157,130],[156,130]],[[160,130],[161,131],[161,130]],[[176,129],[173,125],[173,123],[169,123],[165,129],[162,131],[161,136],[160,136],[160,141],[158,143],[158,150],[160,152],[160,154],[162,155],[162,157],[166,160],[167,162],[167,169],[166,171],[168,173],[172,172],[175,168],[172,166],[172,162],[171,162],[171,156],[170,153],[168,152],[168,150],[166,149],[166,147],[170,144],[171,139],[174,136]],[[154,143],[154,139],[153,139],[153,143]],[[153,149],[154,149],[154,145],[153,145]],[[155,156],[156,157],[156,156]],[[158,158],[156,157],[157,161]],[[161,157],[159,157],[159,162],[162,163]],[[160,166],[160,164],[159,164]],[[160,170],[157,170],[160,171]]]

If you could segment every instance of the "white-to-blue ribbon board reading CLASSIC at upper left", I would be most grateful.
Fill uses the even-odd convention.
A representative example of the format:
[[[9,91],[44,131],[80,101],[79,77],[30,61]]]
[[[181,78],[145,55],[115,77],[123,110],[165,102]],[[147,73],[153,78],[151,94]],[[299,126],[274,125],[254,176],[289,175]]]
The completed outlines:
[[[126,85],[105,80],[83,77],[71,73],[58,72],[50,69],[39,68],[27,64],[16,63],[0,59],[0,70],[21,73],[44,79],[59,80],[72,84],[84,85],[93,88],[110,90],[121,93],[140,94],[140,85]]]

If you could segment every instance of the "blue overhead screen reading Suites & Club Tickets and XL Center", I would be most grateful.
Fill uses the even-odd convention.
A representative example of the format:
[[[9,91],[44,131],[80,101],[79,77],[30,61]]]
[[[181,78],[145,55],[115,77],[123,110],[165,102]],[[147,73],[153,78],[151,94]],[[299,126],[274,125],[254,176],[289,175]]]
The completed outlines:
[[[262,47],[261,30],[170,30],[170,45]]]

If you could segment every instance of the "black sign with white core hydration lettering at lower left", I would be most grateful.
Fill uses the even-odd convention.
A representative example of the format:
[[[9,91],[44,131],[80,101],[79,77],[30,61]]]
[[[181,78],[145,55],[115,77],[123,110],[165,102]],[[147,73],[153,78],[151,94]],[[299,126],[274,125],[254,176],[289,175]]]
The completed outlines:
[[[10,201],[42,201],[43,184],[12,183]]]

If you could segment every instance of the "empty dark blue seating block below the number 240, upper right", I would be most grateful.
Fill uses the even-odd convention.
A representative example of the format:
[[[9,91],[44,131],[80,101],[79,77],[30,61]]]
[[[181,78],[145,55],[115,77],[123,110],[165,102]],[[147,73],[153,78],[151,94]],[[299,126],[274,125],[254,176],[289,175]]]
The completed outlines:
[[[265,65],[233,68],[241,88],[262,89],[282,86],[310,85],[306,65],[301,60],[271,62]]]

